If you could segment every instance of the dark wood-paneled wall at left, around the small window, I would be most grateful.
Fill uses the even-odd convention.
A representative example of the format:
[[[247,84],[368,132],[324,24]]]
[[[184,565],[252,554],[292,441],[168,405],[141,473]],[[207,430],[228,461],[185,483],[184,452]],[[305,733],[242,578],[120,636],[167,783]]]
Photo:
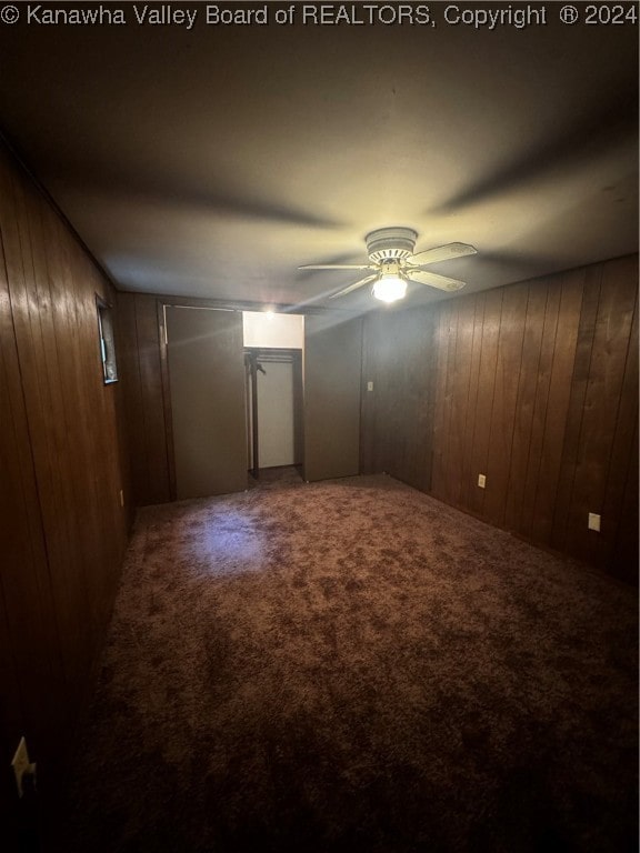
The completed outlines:
[[[127,543],[121,390],[102,382],[96,294],[113,298],[63,220],[0,148],[4,832],[16,811],[9,762],[21,735],[38,763],[41,791],[56,783]]]

